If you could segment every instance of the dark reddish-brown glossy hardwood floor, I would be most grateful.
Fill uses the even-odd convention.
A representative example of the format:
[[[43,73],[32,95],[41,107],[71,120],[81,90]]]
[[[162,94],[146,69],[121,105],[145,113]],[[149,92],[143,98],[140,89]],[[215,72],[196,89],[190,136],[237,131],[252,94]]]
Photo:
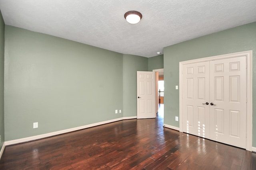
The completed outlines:
[[[7,146],[7,169],[256,170],[256,153],[164,128],[160,112]]]

